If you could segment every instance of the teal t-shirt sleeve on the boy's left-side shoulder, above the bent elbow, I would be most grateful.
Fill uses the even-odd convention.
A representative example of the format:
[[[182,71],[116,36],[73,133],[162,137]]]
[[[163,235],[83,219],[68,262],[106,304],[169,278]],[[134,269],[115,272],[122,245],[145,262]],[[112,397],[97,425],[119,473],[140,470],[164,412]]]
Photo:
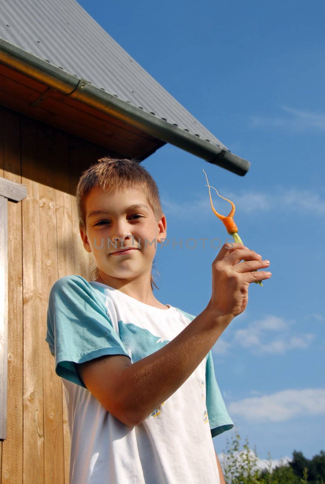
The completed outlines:
[[[104,355],[129,357],[108,317],[105,298],[78,275],[63,276],[51,287],[45,341],[55,357],[56,374],[83,388],[75,363]]]

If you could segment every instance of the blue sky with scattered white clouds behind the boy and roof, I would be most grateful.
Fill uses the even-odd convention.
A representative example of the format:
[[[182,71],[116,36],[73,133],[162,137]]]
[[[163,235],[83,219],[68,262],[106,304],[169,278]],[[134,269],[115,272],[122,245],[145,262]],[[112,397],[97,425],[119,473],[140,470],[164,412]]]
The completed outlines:
[[[226,241],[209,182],[236,203],[239,235],[271,261],[246,311],[213,347],[242,439],[260,458],[325,450],[325,6],[321,1],[79,2],[231,151],[244,177],[168,144],[142,164],[158,184],[170,246],[157,248],[155,296],[198,315]],[[215,195],[215,197],[214,197]],[[213,199],[219,212],[228,202]],[[172,248],[172,239],[183,241]],[[186,247],[194,238],[197,246]],[[192,242],[194,245],[194,242]],[[188,243],[190,245],[190,242]],[[214,438],[222,453],[232,431]]]

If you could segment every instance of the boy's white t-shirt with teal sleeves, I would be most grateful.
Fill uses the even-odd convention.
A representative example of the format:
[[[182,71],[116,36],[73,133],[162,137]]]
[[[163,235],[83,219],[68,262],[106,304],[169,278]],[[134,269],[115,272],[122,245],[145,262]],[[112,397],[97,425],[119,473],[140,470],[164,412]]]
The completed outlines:
[[[219,484],[212,437],[233,427],[211,351],[192,375],[137,426],[111,415],[74,363],[159,350],[195,316],[160,309],[79,275],[51,287],[46,342],[62,378],[71,435],[69,484]],[[109,375],[108,375],[109,378]]]

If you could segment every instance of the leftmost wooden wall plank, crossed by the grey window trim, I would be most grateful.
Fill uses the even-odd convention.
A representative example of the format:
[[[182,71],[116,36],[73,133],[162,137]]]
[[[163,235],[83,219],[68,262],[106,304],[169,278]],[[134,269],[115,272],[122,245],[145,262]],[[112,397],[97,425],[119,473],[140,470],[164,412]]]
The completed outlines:
[[[4,113],[4,176],[21,181],[20,116]],[[8,203],[8,409],[7,439],[2,447],[2,481],[23,480],[23,290],[21,203]]]

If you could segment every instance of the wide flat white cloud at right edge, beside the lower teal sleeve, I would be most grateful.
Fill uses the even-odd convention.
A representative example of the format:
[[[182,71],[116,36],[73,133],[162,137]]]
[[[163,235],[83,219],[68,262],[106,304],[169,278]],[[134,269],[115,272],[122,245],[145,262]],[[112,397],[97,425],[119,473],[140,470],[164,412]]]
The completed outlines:
[[[231,402],[227,408],[230,415],[239,415],[247,420],[285,422],[297,416],[324,414],[325,389],[283,390]]]

